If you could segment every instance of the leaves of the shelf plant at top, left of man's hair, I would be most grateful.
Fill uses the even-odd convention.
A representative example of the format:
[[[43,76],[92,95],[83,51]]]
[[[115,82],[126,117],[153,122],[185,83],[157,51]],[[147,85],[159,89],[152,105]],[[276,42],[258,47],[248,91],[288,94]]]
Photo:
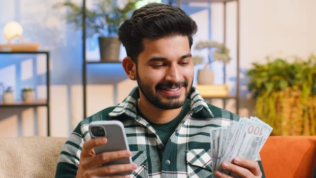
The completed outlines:
[[[86,13],[87,36],[117,36],[120,24],[127,20],[136,9],[135,5],[140,0],[127,1],[121,9],[114,0],[94,0],[93,7],[85,9],[72,2],[57,3],[53,8],[68,7],[66,15],[68,23],[74,24],[75,29],[82,29],[82,16]]]

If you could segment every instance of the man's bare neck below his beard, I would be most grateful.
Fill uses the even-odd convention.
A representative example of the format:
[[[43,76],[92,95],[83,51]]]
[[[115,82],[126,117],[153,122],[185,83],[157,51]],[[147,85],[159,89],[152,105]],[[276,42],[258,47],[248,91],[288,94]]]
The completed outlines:
[[[173,120],[182,110],[182,107],[177,109],[161,109],[154,106],[146,99],[140,99],[138,109],[146,116],[148,120],[156,124],[164,124]]]

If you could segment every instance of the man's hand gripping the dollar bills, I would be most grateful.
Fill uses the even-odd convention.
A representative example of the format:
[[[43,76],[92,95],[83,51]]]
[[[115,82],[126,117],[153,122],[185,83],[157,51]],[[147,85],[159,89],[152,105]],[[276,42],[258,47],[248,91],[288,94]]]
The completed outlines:
[[[222,168],[242,178],[261,178],[262,172],[257,161],[252,161],[243,158],[234,158],[231,163],[223,162]],[[220,170],[215,171],[218,178],[231,178],[232,176],[225,174]]]

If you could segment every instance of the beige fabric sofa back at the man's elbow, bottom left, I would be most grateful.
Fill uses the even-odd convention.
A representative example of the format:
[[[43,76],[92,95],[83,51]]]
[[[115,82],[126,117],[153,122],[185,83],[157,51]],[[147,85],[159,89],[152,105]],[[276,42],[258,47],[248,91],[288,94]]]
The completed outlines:
[[[54,177],[66,138],[0,138],[0,177]]]

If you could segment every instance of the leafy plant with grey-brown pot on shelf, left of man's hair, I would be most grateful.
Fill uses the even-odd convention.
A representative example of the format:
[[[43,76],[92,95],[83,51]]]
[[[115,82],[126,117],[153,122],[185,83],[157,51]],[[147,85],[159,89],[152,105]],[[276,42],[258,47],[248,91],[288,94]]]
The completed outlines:
[[[118,61],[118,28],[132,15],[139,1],[128,0],[122,4],[122,1],[95,0],[91,9],[85,9],[87,37],[98,36],[101,61]],[[70,1],[54,5],[54,8],[60,7],[70,8],[66,16],[68,23],[74,24],[75,29],[82,29],[83,8]]]

